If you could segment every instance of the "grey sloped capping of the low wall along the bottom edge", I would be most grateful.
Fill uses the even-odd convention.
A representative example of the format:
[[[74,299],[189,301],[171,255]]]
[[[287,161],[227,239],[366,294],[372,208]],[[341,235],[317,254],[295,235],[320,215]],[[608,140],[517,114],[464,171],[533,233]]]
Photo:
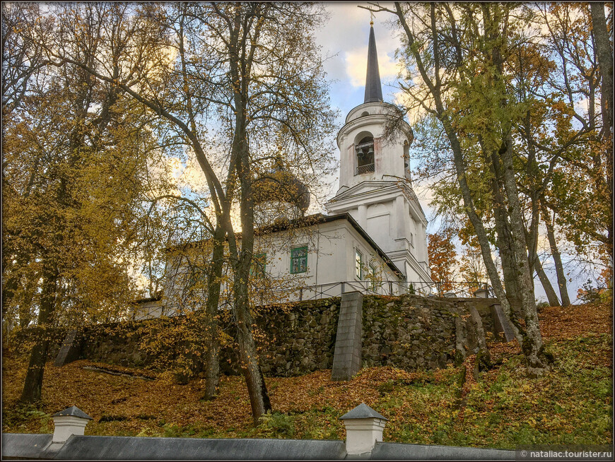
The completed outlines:
[[[351,455],[346,454],[344,442],[335,440],[94,437],[73,435],[69,437],[66,443],[59,444],[52,443],[51,434],[3,433],[2,458],[54,460],[514,460],[515,451],[376,442],[375,448],[371,453]]]

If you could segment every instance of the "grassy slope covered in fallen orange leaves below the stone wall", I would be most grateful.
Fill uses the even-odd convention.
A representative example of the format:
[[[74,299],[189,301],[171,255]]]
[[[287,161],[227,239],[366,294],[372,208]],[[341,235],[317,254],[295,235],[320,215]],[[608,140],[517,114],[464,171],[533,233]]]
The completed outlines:
[[[201,381],[178,385],[105,374],[148,374],[81,360],[61,368],[47,363],[43,402],[18,406],[25,359],[4,352],[3,432],[53,431],[51,415],[77,405],[94,417],[86,434],[157,437],[266,437],[344,439],[338,418],[361,402],[385,415],[389,442],[514,448],[520,444],[610,444],[611,307],[587,304],[542,310],[541,330],[556,356],[552,372],[527,379],[516,342],[491,345],[496,367],[472,374],[464,366],[435,372],[372,367],[348,382],[324,370],[303,377],[266,379],[275,412],[252,425],[242,377],[222,377],[220,396],[199,401]],[[470,366],[470,367],[467,367]]]

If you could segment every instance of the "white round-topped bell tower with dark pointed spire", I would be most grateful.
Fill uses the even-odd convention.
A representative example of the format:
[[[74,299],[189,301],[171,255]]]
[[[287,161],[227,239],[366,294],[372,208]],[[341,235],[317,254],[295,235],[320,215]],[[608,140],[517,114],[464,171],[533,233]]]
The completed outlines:
[[[409,146],[414,139],[404,114],[382,100],[373,22],[363,104],[351,109],[337,135],[339,189],[325,204],[350,213],[410,282],[431,282],[427,220],[411,186]],[[393,134],[385,127],[397,120]]]

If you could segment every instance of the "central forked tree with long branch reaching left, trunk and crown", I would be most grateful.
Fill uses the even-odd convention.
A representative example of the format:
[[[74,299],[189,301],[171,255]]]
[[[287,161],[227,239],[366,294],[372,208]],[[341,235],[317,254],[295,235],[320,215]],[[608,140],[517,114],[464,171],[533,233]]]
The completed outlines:
[[[279,152],[277,146],[290,148],[283,154],[307,175],[330,160],[322,140],[332,131],[333,114],[320,57],[309,35],[321,16],[307,4],[113,8],[119,22],[152,19],[165,28],[165,40],[142,55],[120,47],[117,59],[125,69],[119,66],[115,74],[105,61],[93,66],[61,44],[55,57],[58,64],[79,66],[158,114],[196,158],[209,188],[219,243],[225,239],[228,244],[240,361],[257,420],[271,405],[257,362],[247,291],[254,245],[252,182],[257,166],[271,162]],[[139,32],[124,40],[126,45],[146,43],[148,37]],[[215,144],[207,138],[207,124],[216,127],[224,152],[209,148]],[[275,146],[271,140],[282,142]],[[234,206],[240,239],[232,220]]]

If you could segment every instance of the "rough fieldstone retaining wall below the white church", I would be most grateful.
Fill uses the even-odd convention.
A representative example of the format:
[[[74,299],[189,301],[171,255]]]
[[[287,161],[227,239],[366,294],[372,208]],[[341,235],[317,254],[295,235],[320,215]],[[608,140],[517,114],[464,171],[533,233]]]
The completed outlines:
[[[418,295],[363,297],[363,367],[393,366],[409,371],[445,367],[455,359],[455,317],[467,312],[471,302],[476,302],[485,330],[493,331],[489,309],[493,300],[435,300]],[[339,306],[339,297],[334,297],[260,309],[254,322],[263,373],[289,377],[331,369]],[[226,334],[220,352],[221,371],[238,374],[235,331],[227,317],[221,319]],[[83,328],[81,358],[152,367],[160,355],[165,355],[172,363],[185,348],[181,327],[186,322],[185,316],[175,316]],[[51,355],[59,350],[66,330],[62,332],[54,336],[57,345],[54,343]],[[168,338],[165,333],[169,333]],[[160,348],[142,348],[144,336],[156,338]],[[194,364],[192,369],[198,372],[198,360]]]

